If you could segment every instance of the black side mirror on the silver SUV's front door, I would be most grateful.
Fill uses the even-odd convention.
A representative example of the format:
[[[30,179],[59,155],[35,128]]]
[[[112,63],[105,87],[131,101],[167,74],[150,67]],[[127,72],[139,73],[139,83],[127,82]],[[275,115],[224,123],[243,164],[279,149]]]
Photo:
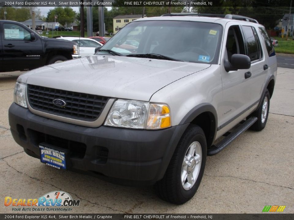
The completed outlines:
[[[224,60],[224,68],[227,72],[238,69],[249,69],[250,67],[250,58],[243,54],[233,54],[231,57],[231,62]]]

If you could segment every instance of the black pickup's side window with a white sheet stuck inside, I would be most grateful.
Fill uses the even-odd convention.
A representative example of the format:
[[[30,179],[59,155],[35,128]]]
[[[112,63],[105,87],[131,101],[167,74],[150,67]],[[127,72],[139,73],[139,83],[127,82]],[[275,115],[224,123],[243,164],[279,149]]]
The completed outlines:
[[[31,33],[17,24],[3,24],[5,40],[31,40]]]

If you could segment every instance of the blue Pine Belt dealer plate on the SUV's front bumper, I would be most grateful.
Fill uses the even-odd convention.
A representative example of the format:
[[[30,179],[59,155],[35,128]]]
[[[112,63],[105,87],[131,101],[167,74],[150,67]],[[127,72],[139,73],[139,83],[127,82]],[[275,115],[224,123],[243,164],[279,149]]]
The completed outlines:
[[[39,145],[41,162],[57,169],[66,169],[65,152]]]

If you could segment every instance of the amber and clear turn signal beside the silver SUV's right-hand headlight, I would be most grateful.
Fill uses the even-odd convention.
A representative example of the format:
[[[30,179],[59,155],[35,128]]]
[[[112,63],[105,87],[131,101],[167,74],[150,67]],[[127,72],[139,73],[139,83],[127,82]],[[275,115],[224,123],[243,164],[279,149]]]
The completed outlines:
[[[171,127],[171,115],[166,104],[150,104],[146,129]]]

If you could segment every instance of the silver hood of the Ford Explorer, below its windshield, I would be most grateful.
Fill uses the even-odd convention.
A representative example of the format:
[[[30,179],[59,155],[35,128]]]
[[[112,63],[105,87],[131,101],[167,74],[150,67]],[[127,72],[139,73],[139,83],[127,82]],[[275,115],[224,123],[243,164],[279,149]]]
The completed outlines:
[[[93,55],[29,71],[18,79],[32,85],[149,101],[164,86],[210,64]]]

